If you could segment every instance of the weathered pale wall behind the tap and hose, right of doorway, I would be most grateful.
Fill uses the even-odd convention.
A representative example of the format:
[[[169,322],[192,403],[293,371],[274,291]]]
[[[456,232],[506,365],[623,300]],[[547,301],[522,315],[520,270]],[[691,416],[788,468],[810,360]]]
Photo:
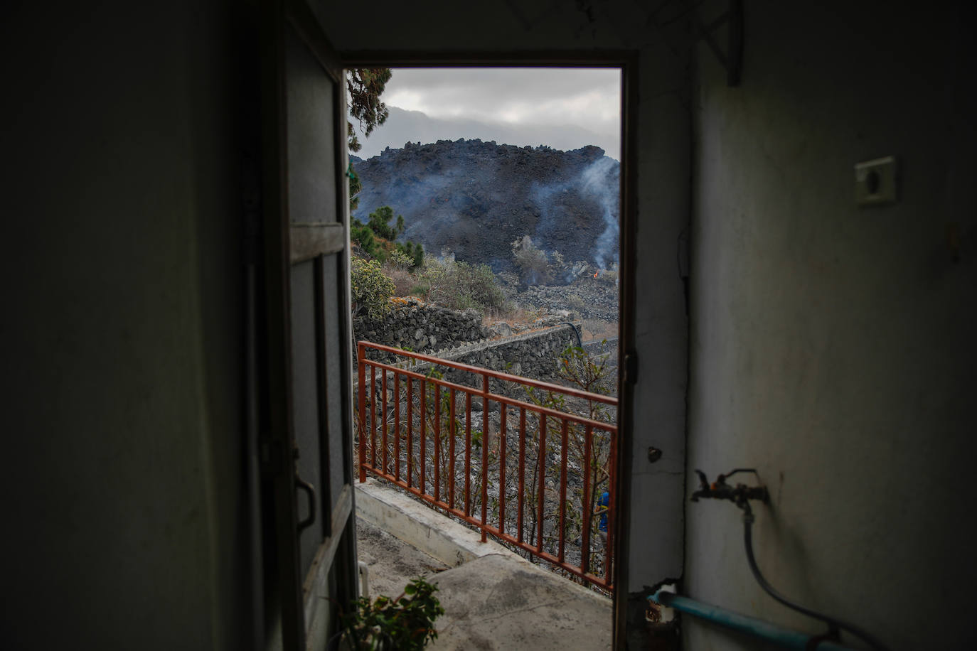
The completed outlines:
[[[756,509],[757,562],[786,595],[892,649],[974,648],[971,20],[878,3],[746,10],[743,85],[703,48],[692,102],[688,468],[758,468],[772,503]],[[854,164],[888,154],[900,201],[857,208]],[[825,630],[757,586],[738,509],[686,512],[681,591]],[[688,649],[756,648],[682,629]]]

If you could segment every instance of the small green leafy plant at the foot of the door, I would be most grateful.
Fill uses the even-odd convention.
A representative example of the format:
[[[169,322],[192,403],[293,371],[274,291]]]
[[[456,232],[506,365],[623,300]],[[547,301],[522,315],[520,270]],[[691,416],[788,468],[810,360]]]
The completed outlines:
[[[340,631],[355,651],[414,651],[437,639],[434,621],[445,614],[434,593],[438,587],[414,579],[397,598],[379,595],[372,602],[360,597],[355,611],[342,616]]]

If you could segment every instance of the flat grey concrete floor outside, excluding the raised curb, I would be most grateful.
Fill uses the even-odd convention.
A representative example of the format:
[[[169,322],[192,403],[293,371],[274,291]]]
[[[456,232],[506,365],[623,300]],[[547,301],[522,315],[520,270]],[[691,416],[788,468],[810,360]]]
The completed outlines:
[[[607,649],[611,600],[514,557],[489,553],[457,567],[357,518],[370,594],[397,596],[410,579],[437,584],[445,615],[434,649]]]

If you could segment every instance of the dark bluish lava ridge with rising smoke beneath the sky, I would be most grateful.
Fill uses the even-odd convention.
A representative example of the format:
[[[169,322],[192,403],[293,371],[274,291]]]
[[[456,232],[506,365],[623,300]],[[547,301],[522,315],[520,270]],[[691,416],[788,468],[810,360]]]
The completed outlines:
[[[480,140],[407,142],[362,160],[354,217],[380,206],[404,215],[402,239],[458,260],[511,268],[513,240],[530,235],[567,262],[617,261],[620,165],[596,146],[559,151]]]

